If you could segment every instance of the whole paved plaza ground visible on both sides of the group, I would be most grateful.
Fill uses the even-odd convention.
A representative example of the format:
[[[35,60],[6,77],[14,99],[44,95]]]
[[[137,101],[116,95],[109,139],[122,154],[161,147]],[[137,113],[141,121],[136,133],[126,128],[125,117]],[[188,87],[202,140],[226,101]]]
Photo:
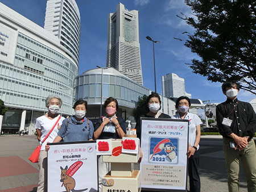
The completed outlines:
[[[37,145],[35,136],[0,136],[0,192],[36,191],[39,168],[28,157]],[[201,137],[199,173],[201,191],[228,191],[221,136]],[[246,180],[241,166],[240,192],[245,191]]]

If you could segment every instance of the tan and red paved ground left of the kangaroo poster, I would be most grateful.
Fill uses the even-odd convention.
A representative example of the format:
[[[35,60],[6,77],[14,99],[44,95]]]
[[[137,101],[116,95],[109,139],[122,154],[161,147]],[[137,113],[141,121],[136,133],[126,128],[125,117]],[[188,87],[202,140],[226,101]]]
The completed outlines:
[[[36,191],[39,168],[28,157],[37,145],[35,136],[0,136],[0,192]]]

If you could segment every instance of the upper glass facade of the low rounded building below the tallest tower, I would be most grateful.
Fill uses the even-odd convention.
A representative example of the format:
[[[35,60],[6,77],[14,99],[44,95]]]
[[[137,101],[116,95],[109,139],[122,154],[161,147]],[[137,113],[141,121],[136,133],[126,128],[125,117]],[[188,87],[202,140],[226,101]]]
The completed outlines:
[[[110,73],[109,70],[114,70]],[[88,73],[87,73],[88,72]],[[113,68],[104,68],[101,76],[101,69],[92,69],[76,77],[76,100],[85,99],[88,105],[100,104],[101,85],[102,101],[108,97],[114,97],[118,105],[133,108],[139,96],[149,95],[151,91],[146,87],[130,80]],[[95,72],[95,73],[92,73]],[[101,84],[101,77],[103,84]]]

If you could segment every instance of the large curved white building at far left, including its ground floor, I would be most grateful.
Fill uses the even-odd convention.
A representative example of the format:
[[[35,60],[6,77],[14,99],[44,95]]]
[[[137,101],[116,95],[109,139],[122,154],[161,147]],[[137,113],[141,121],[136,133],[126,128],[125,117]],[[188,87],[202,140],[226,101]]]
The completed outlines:
[[[72,114],[78,61],[59,37],[0,3],[0,99],[9,108],[2,131],[34,133],[35,119],[47,112],[45,99],[63,99],[61,114]],[[0,122],[1,122],[0,119]]]

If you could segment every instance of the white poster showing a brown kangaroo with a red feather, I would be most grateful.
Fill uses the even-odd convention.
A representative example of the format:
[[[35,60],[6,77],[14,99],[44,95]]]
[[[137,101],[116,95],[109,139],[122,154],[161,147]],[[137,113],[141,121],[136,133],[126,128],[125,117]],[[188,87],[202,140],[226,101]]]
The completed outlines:
[[[48,191],[98,190],[96,141],[49,145]]]

